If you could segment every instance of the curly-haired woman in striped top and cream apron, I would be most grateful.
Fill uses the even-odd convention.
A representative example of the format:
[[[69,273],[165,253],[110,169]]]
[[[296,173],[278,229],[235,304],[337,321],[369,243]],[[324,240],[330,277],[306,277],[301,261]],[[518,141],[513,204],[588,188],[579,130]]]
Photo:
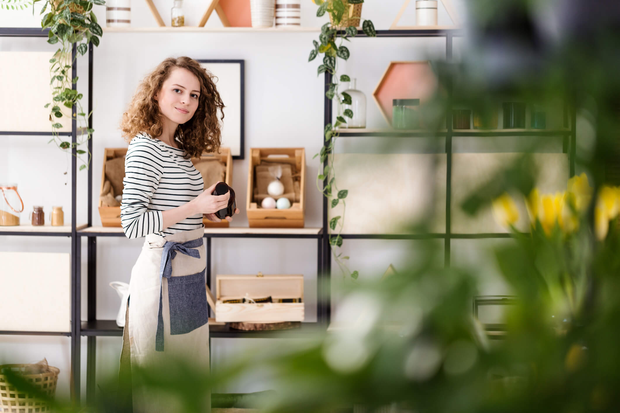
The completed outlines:
[[[228,205],[229,194],[211,195],[215,184],[203,190],[203,179],[190,157],[218,151],[223,108],[213,75],[197,61],[182,57],[164,60],[146,76],[123,113],[121,129],[130,143],[121,224],[128,238],[146,237],[131,270],[123,378],[131,367],[180,357],[208,369],[202,219],[218,222],[215,212]],[[147,395],[135,377],[133,386],[119,383],[120,397],[124,394],[131,401],[132,387],[136,409],[178,411],[165,392]],[[205,405],[210,411],[208,394]]]

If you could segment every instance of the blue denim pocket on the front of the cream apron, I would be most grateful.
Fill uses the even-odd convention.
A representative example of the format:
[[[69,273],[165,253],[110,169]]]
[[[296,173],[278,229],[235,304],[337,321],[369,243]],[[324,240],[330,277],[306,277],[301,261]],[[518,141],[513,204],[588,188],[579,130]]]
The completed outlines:
[[[209,322],[205,271],[168,279],[170,334],[187,334]]]

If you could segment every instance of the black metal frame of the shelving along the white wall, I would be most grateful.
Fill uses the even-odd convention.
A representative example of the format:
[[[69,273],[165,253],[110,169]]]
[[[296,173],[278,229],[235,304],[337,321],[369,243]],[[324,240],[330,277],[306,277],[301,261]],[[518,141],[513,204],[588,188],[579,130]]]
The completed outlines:
[[[454,30],[378,30],[378,37],[445,37],[446,38],[446,58],[452,58],[452,41],[454,36],[461,35],[458,29]],[[38,28],[0,28],[0,37],[47,37],[47,30]],[[362,32],[356,37],[366,37]],[[76,56],[76,48],[73,48],[73,57]],[[89,76],[88,90],[89,102],[88,111],[91,113],[92,108],[92,67],[93,67],[93,48],[89,45],[88,50]],[[77,64],[73,64],[73,77],[76,77]],[[330,84],[332,75],[325,72],[325,91],[327,85]],[[76,85],[74,84],[75,88]],[[73,107],[75,111],[75,107]],[[451,111],[448,111],[451,113]],[[92,128],[92,116],[89,118],[89,128]],[[332,101],[324,98],[324,125],[332,123]],[[445,233],[428,233],[428,234],[343,234],[345,239],[377,239],[377,240],[412,240],[412,239],[443,239],[445,242],[445,264],[449,265],[450,240],[467,239],[467,238],[507,238],[509,234],[492,233],[492,234],[455,234],[450,232],[450,194],[451,194],[451,154],[452,154],[452,138],[454,136],[514,136],[514,131],[454,131],[452,129],[451,116],[446,119],[447,129],[440,131],[437,135],[445,137],[445,154],[447,155],[447,173],[446,173],[446,232]],[[570,157],[570,175],[574,174],[575,160],[575,118],[573,119],[571,128],[563,131],[523,131],[518,134],[523,136],[557,136],[558,134],[565,137],[564,152]],[[78,129],[76,128],[76,120],[72,122],[71,133],[61,133],[63,136],[71,136],[72,142],[76,142]],[[0,135],[45,135],[51,136],[51,133],[40,132],[2,132]],[[422,137],[428,136],[423,131],[352,131],[341,130],[340,136],[395,136],[395,137]],[[321,136],[321,142],[324,137]],[[92,154],[92,139],[88,141],[88,149]],[[442,152],[443,153],[443,152]],[[76,149],[73,149],[73,155],[76,155]],[[325,161],[325,164],[327,161]],[[19,232],[19,231],[3,231],[0,235],[20,235],[20,236],[49,236],[49,237],[70,237],[71,238],[71,332],[32,332],[32,331],[0,331],[0,334],[24,334],[24,335],[48,335],[48,336],[69,336],[71,337],[71,396],[74,400],[80,399],[81,391],[81,337],[87,337],[87,399],[92,400],[94,396],[95,385],[95,355],[96,355],[96,338],[99,336],[122,336],[122,329],[116,326],[114,320],[97,320],[97,238],[99,237],[125,237],[120,228],[94,228],[92,227],[92,167],[87,171],[87,223],[85,228],[76,227],[76,157],[72,157],[71,164],[71,230],[65,232],[50,232],[42,230],[41,232]],[[327,180],[324,181],[324,185]],[[317,322],[303,323],[301,328],[288,331],[236,331],[231,330],[228,326],[210,326],[210,337],[215,338],[274,338],[274,337],[309,337],[319,332],[325,331],[330,321],[330,271],[331,261],[330,244],[329,244],[329,225],[328,225],[328,206],[327,198],[323,197],[322,202],[322,228],[317,228],[316,232],[299,231],[300,233],[284,232],[248,232],[233,233],[226,231],[205,231],[206,238],[206,274],[208,285],[211,285],[211,242],[213,238],[299,238],[313,239],[317,242],[317,297],[324,297],[324,300],[317,302]],[[306,228],[307,230],[308,228]],[[82,238],[86,238],[87,244],[87,320],[81,321],[81,247]]]

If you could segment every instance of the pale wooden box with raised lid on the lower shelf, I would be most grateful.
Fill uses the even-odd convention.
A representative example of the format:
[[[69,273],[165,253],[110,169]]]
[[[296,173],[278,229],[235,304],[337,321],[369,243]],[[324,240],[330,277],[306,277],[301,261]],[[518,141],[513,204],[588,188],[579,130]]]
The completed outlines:
[[[301,274],[217,275],[215,320],[223,323],[304,321],[304,277]],[[224,303],[224,300],[272,297],[301,298],[298,303]]]

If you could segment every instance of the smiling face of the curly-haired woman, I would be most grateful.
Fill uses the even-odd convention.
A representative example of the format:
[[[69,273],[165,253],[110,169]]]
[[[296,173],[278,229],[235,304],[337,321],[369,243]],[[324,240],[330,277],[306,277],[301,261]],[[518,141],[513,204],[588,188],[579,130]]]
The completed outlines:
[[[164,80],[161,90],[155,93],[161,113],[179,124],[192,119],[198,108],[199,97],[198,77],[183,67],[174,67],[168,79]]]

